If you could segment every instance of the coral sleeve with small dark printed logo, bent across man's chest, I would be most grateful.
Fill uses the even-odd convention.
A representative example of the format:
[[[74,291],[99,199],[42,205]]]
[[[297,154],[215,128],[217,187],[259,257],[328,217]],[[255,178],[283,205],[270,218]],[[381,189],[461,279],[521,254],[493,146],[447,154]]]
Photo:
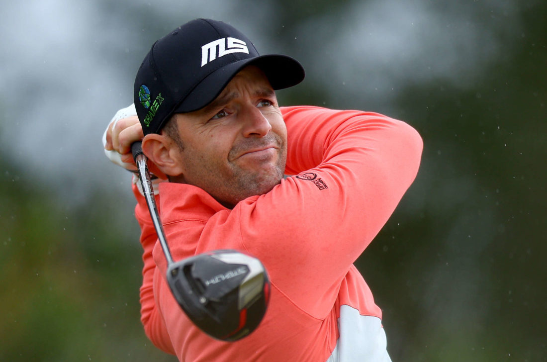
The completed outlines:
[[[376,113],[288,107],[283,115],[287,173],[296,176],[232,214],[274,287],[323,318],[416,177],[422,140],[408,124]]]

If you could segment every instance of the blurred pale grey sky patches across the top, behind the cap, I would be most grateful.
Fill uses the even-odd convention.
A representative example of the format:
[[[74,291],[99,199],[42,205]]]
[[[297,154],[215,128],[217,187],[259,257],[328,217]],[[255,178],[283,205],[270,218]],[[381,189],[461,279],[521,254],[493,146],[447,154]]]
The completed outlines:
[[[373,0],[292,24],[290,52],[308,86],[333,108],[389,106],[409,83],[458,87],[524,36],[516,2]],[[104,127],[132,102],[136,69],[153,40],[195,17],[230,22],[260,52],[288,52],[276,2],[3,1],[0,14],[1,147],[85,201],[92,185],[122,188],[124,173],[102,153]],[[252,16],[249,16],[252,15]],[[488,19],[485,19],[488,17]],[[161,20],[159,20],[161,19]],[[268,31],[265,31],[268,30]],[[276,34],[277,31],[277,34]],[[294,38],[294,39],[292,39]]]

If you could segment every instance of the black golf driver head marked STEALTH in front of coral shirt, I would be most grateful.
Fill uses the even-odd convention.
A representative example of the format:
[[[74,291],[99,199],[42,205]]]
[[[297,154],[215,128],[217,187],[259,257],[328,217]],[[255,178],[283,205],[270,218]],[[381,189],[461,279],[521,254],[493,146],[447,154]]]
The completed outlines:
[[[198,328],[227,342],[254,331],[270,299],[270,281],[260,260],[236,250],[174,262],[168,266],[167,283]]]

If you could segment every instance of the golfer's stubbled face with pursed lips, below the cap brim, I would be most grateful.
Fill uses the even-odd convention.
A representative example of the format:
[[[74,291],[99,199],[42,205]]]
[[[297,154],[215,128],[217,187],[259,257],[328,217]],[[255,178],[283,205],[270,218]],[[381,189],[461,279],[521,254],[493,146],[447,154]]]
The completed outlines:
[[[175,116],[183,182],[233,207],[280,183],[287,129],[277,98],[259,68],[238,73],[205,108]]]

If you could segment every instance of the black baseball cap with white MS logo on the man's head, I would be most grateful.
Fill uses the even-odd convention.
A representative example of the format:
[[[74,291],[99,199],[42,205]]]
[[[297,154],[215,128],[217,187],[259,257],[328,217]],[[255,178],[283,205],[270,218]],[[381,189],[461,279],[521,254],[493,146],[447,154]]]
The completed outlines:
[[[274,90],[304,79],[286,55],[259,55],[243,33],[222,21],[195,19],[152,45],[135,78],[133,94],[144,135],[159,133],[174,113],[211,103],[246,66],[259,67]]]

